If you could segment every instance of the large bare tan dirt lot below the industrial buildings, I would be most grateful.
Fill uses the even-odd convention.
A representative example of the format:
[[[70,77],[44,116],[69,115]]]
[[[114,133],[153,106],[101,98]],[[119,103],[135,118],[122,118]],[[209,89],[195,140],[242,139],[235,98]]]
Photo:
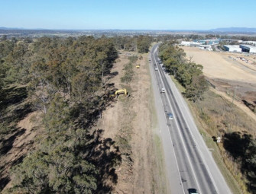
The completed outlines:
[[[240,107],[256,120],[256,56],[243,53],[210,52],[182,46],[188,59],[203,65],[203,74],[215,93]],[[234,100],[233,100],[234,98]]]

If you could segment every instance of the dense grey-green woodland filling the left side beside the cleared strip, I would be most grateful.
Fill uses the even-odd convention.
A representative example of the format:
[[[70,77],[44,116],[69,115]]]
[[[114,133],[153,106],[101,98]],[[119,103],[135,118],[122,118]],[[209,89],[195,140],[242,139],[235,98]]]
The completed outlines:
[[[34,151],[12,169],[15,180],[7,192],[111,189],[103,177],[115,177],[111,170],[120,162],[118,148],[92,124],[108,103],[104,77],[117,58],[113,40],[106,37],[1,40],[0,92],[11,84],[24,86],[31,106],[43,115],[44,129]],[[5,117],[2,123],[8,127]]]

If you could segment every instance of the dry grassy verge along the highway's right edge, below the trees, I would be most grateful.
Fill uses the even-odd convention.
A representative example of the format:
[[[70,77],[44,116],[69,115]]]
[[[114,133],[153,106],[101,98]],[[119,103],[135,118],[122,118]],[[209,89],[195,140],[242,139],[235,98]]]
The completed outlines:
[[[179,91],[183,92],[185,89],[173,76],[171,78]],[[222,136],[225,132],[252,131],[253,121],[245,118],[245,114],[238,107],[228,103],[212,91],[206,91],[205,99],[202,101],[193,103],[186,100],[186,103],[229,188],[233,193],[247,193],[238,165],[228,156],[222,142],[217,144],[212,136]]]

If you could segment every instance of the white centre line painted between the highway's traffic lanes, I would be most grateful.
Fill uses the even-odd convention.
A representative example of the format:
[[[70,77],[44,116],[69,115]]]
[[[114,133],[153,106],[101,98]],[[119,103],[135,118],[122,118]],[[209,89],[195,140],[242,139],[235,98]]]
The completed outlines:
[[[156,47],[156,49],[154,49],[153,56],[154,56],[154,53],[156,52],[156,50],[157,50],[157,47]],[[155,59],[155,58],[154,58],[154,61],[156,62],[156,59]],[[156,62],[156,65],[157,65],[157,62]],[[158,72],[158,71],[157,71],[157,72]],[[162,79],[162,77],[161,77],[161,75],[160,75],[160,72],[158,72],[158,74],[159,74],[159,76],[160,76],[160,80],[161,80],[162,84],[164,85],[164,81],[163,81],[163,79]],[[170,99],[169,99],[168,95],[167,95],[167,100],[168,100],[168,103],[169,103],[169,105],[170,105],[170,109],[171,109],[172,112],[173,112],[173,107],[171,106]],[[174,112],[173,112],[173,113],[174,113]],[[190,161],[190,157],[189,157],[188,151],[187,151],[187,149],[186,149],[186,146],[185,146],[183,137],[182,137],[181,132],[180,132],[180,131],[181,131],[181,130],[180,130],[180,126],[178,125],[177,119],[175,119],[175,117],[176,117],[175,114],[173,114],[173,119],[175,120],[176,126],[177,126],[177,128],[179,129],[178,131],[179,131],[179,135],[180,135],[180,138],[181,138],[181,142],[183,143],[183,148],[185,149],[186,157],[187,157],[187,159],[188,159],[188,161],[189,161],[189,163],[190,163],[190,167],[191,167],[193,176],[194,176],[194,178],[195,178],[195,180],[196,180],[196,185],[197,185],[197,187],[198,187],[198,189],[199,189],[199,192],[202,193],[202,192],[201,192],[201,188],[200,188],[200,186],[199,186],[199,182],[198,182],[197,177],[196,177],[195,170],[193,169],[192,162]]]

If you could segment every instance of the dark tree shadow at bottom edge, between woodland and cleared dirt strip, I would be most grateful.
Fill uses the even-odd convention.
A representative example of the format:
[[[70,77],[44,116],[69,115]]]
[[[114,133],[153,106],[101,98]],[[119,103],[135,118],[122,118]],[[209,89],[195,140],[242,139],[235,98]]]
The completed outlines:
[[[96,130],[92,136],[91,153],[88,155],[89,161],[99,169],[97,176],[97,193],[109,193],[113,190],[113,185],[118,183],[118,175],[115,167],[122,162],[121,153],[112,138],[102,138],[102,129]]]

